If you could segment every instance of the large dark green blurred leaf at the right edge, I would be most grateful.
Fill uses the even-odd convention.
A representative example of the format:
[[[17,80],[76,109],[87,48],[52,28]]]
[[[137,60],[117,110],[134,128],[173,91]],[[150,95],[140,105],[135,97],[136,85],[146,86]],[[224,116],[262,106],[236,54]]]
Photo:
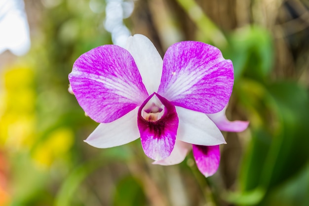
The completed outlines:
[[[243,198],[257,188],[268,195],[304,168],[309,159],[306,90],[295,82],[276,82],[267,89],[260,104],[266,103],[266,109],[276,117],[265,118],[264,125],[253,129],[240,174]]]

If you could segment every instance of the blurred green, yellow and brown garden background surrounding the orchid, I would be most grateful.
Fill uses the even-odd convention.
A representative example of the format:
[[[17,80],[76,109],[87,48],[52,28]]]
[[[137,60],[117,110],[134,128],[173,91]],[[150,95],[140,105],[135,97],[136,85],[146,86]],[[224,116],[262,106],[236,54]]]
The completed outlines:
[[[309,205],[308,0],[1,1],[0,206]],[[113,1],[124,32],[112,36]],[[199,173],[192,153],[160,166],[139,140],[83,142],[98,124],[68,92],[68,74],[79,55],[130,32],[162,56],[193,40],[232,59],[227,116],[250,125],[223,132],[214,176]]]

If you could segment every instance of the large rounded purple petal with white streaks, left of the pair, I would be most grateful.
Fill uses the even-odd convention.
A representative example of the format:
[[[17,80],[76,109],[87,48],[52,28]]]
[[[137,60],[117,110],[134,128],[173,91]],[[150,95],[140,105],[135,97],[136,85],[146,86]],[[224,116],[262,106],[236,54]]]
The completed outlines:
[[[148,97],[133,57],[116,45],[82,54],[69,80],[81,108],[99,123],[115,121]]]

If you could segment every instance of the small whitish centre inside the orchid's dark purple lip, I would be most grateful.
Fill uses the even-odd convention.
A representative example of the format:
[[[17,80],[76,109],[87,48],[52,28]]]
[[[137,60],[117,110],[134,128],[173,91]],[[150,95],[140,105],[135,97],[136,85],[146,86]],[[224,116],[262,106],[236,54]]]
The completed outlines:
[[[154,95],[142,109],[142,117],[147,121],[157,121],[161,119],[163,114],[164,105],[156,95]]]

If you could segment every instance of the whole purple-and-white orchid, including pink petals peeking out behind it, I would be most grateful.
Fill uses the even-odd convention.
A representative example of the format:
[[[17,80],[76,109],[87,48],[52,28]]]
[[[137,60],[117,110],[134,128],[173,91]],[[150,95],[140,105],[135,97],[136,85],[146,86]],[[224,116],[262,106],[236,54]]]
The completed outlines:
[[[178,164],[192,147],[199,170],[210,176],[226,143],[220,129],[248,125],[226,119],[232,62],[206,43],[175,43],[162,61],[148,38],[134,35],[126,49],[103,45],[82,54],[69,80],[79,105],[101,123],[85,142],[108,148],[140,137],[154,164]]]

